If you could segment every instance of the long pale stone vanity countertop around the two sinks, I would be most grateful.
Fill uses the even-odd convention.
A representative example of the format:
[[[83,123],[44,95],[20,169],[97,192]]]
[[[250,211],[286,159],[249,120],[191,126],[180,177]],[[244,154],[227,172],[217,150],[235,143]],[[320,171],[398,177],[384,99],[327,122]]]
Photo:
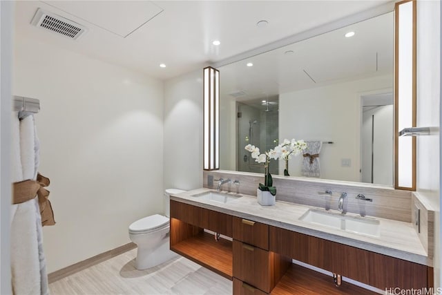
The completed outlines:
[[[307,210],[316,207],[281,201],[276,201],[274,206],[261,206],[258,204],[255,196],[247,195],[240,195],[242,198],[227,203],[204,200],[193,196],[207,191],[213,190],[204,188],[194,189],[173,195],[171,200],[432,266],[432,259],[428,258],[427,252],[423,248],[412,223],[375,218],[380,221],[380,236],[365,236],[299,220]],[[227,192],[221,191],[221,193]],[[229,194],[238,196],[235,193]]]

